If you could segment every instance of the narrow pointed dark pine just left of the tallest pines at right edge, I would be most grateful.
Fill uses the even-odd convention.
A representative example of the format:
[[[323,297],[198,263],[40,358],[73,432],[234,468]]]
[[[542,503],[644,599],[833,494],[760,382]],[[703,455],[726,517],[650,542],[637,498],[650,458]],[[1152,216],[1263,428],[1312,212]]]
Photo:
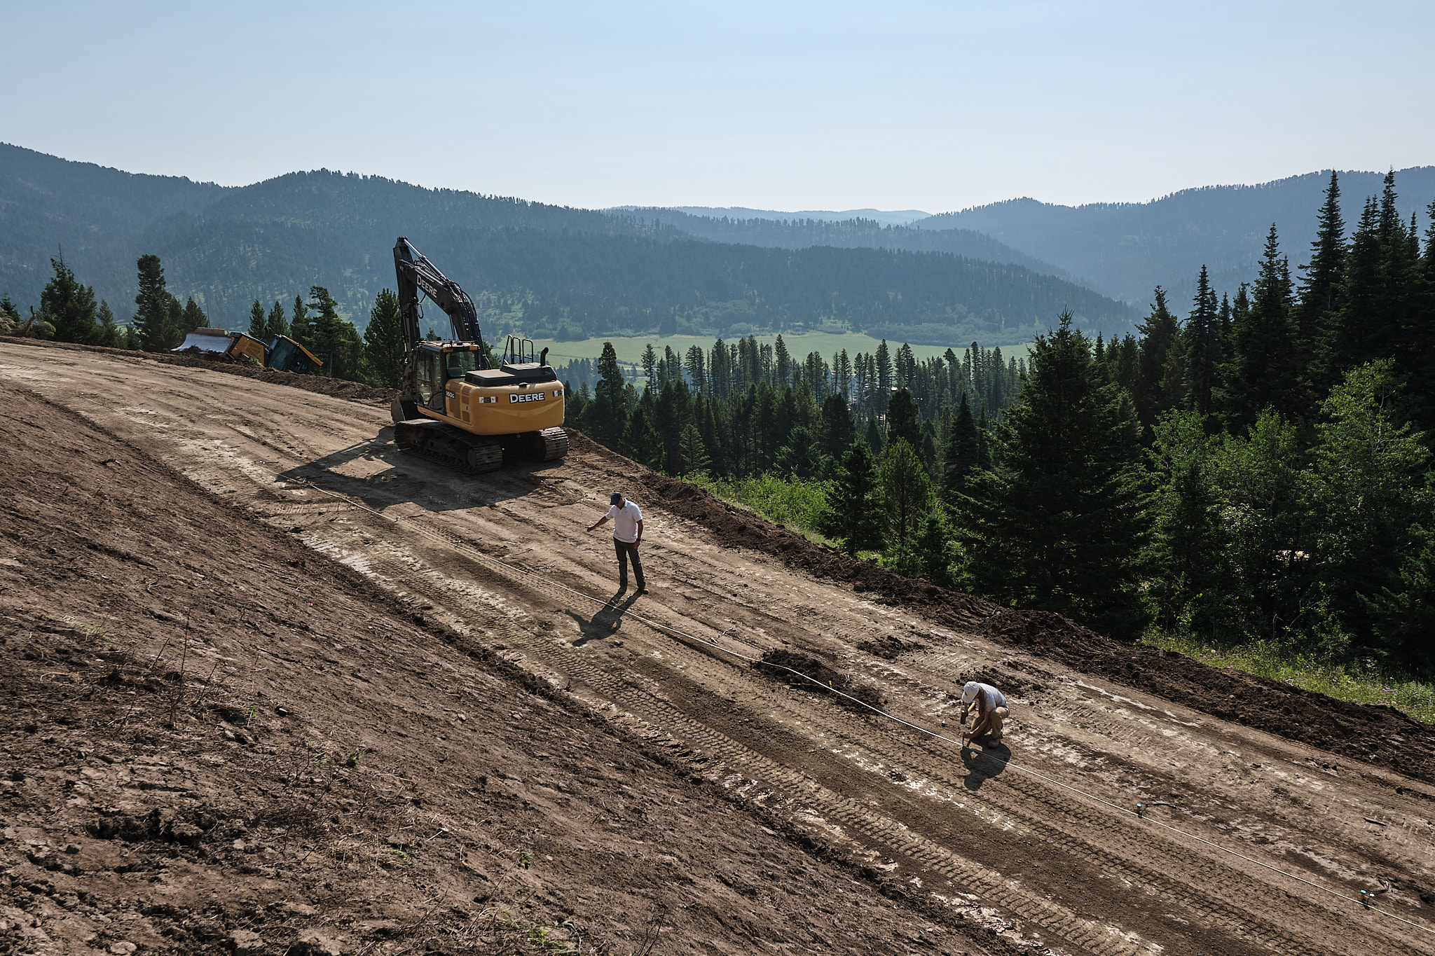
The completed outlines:
[[[1290,268],[1273,224],[1250,310],[1231,328],[1231,361],[1218,398],[1230,431],[1244,431],[1264,408],[1283,416],[1303,408],[1290,287]]]

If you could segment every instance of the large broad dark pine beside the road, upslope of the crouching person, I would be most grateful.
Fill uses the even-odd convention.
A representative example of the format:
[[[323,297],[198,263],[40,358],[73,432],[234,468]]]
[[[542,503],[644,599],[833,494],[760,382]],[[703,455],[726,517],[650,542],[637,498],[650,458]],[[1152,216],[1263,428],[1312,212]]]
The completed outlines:
[[[997,426],[994,473],[963,532],[977,591],[1134,639],[1145,625],[1139,424],[1102,383],[1071,312],[1033,345],[1022,400]]]

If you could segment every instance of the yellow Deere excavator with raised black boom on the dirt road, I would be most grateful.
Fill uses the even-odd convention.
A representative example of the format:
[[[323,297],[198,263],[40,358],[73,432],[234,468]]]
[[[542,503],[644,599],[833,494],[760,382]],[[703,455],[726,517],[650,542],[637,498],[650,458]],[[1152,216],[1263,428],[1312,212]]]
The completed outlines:
[[[530,338],[508,337],[498,368],[468,294],[405,236],[393,245],[403,327],[403,380],[392,404],[395,443],[465,472],[492,472],[505,454],[552,462],[568,453],[564,394]],[[419,334],[420,297],[449,317],[453,338]]]

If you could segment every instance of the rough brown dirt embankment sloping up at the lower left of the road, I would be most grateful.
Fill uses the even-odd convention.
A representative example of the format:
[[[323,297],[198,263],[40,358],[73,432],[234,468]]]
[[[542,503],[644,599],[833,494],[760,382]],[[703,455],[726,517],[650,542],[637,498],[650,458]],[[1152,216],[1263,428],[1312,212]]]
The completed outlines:
[[[1015,949],[3,396],[0,952]]]

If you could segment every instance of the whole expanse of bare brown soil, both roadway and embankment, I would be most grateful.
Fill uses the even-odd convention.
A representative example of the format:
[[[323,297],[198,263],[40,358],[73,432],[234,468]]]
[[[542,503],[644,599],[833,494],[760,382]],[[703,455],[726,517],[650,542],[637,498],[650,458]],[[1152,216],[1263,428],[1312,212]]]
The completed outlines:
[[[0,953],[1431,952],[1402,715],[895,578],[591,443],[461,476],[382,398],[201,365],[0,343]],[[614,487],[641,598],[583,530]],[[949,738],[966,679],[1013,714],[963,752],[763,656]]]

